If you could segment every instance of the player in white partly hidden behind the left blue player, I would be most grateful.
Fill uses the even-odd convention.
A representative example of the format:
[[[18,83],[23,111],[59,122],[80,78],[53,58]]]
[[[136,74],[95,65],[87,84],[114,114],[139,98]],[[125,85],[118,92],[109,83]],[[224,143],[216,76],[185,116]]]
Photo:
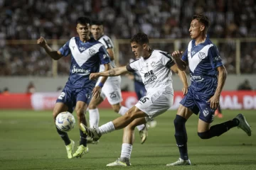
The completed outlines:
[[[104,34],[103,24],[101,21],[92,21],[92,27],[91,27],[91,33],[93,38],[95,40],[100,41],[105,48],[107,49],[107,52],[110,55],[110,67],[115,68],[114,64],[114,45],[112,43],[112,40]],[[103,72],[105,70],[104,64],[100,65],[100,72]],[[102,77],[100,77],[97,80],[97,84],[100,84],[100,80]],[[96,85],[97,85],[96,84]],[[99,121],[100,121],[100,114],[99,110],[97,109],[97,106],[102,103],[102,101],[105,100],[107,97],[107,101],[111,104],[114,112],[119,113],[120,115],[124,115],[127,113],[129,108],[122,106],[122,94],[121,94],[121,77],[108,77],[105,84],[102,85],[102,91],[100,94],[100,98],[92,98],[90,101],[90,104],[88,106],[89,108],[89,122],[90,122],[90,128],[98,128],[99,127]],[[103,86],[104,85],[104,86]],[[143,144],[146,140],[147,136],[147,128],[146,125],[138,125],[137,129],[139,130],[139,135],[141,137],[141,143]],[[88,139],[88,142],[90,140]],[[92,143],[97,143],[93,142]]]

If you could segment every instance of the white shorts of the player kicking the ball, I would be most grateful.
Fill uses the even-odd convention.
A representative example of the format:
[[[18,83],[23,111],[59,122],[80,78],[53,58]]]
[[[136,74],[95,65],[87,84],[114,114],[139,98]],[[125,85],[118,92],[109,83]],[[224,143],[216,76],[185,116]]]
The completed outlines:
[[[174,103],[174,91],[172,89],[159,89],[146,94],[135,105],[139,110],[143,111],[149,117],[146,121],[151,120],[157,115],[166,112]]]

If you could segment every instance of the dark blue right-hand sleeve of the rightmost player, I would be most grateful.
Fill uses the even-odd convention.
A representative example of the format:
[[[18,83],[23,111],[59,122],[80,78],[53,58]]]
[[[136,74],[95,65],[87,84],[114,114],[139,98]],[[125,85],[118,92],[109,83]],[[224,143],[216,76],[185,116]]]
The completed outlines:
[[[213,67],[213,69],[223,65],[223,62],[220,57],[220,53],[218,51],[218,48],[215,45],[213,45],[213,47],[210,47],[210,49],[208,51],[208,57],[209,57],[210,64]]]

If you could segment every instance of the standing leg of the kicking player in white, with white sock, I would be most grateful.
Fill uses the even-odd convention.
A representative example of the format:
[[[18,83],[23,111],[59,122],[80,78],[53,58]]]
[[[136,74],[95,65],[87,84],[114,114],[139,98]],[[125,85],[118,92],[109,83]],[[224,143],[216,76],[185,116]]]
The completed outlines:
[[[134,128],[137,125],[146,123],[145,118],[137,118],[124,128],[121,155],[117,161],[107,164],[107,166],[130,166],[132,145],[134,143]]]

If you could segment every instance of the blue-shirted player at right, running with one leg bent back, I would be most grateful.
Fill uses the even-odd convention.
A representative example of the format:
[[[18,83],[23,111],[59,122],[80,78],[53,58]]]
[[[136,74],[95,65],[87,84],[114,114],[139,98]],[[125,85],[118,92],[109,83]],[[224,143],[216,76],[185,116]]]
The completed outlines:
[[[179,69],[185,70],[187,66],[189,67],[191,86],[188,87],[188,94],[181,100],[174,120],[174,136],[180,158],[177,162],[167,164],[167,166],[191,165],[188,159],[188,137],[185,124],[193,113],[197,115],[200,112],[198,136],[201,139],[220,136],[234,127],[241,128],[248,136],[251,135],[250,126],[241,113],[233,120],[210,126],[215,109],[219,105],[220,92],[225,84],[227,72],[217,47],[206,35],[209,26],[210,22],[207,16],[202,14],[193,16],[189,28],[193,40],[188,43],[188,49],[183,55],[180,51],[175,51],[172,54]]]

